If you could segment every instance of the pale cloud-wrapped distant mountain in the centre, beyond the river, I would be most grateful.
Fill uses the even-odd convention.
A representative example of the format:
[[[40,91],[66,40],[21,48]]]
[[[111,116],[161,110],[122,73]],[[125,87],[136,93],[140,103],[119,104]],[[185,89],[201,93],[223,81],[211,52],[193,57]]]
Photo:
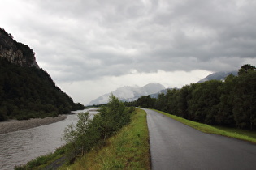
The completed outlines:
[[[112,94],[117,98],[119,98],[119,100],[133,101],[133,100],[137,100],[140,96],[151,95],[163,89],[165,89],[165,87],[162,84],[149,83],[144,87],[138,87],[138,86],[119,87],[115,91],[112,91]],[[106,104],[108,102],[110,95],[111,93],[107,93],[103,96],[99,96],[97,99],[90,101],[88,105]]]

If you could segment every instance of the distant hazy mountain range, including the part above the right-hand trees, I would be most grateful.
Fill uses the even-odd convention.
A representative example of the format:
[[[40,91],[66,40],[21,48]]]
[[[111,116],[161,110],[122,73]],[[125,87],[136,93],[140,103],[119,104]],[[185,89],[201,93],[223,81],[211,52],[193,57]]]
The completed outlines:
[[[229,74],[237,75],[237,71],[216,72],[206,76],[206,78],[201,79],[197,83],[203,83],[212,79],[223,80]],[[138,86],[119,87],[118,89],[116,89],[115,91],[112,91],[111,93],[114,96],[118,97],[119,100],[134,101],[140,98],[141,96],[148,96],[148,95],[150,95],[150,97],[152,98],[158,98],[158,95],[160,93],[166,94],[168,89],[173,89],[173,88],[165,88],[162,84],[159,84],[159,83],[149,83],[144,87],[138,87]],[[87,105],[106,104],[109,100],[109,96],[111,95],[111,93],[107,93],[105,95],[99,96],[97,99],[90,101],[89,104]]]

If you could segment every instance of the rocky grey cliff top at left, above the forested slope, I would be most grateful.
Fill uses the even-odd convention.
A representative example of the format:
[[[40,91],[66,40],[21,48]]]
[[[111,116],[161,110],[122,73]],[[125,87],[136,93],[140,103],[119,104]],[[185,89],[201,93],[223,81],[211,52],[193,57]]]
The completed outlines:
[[[33,49],[30,49],[28,45],[16,42],[11,34],[2,28],[0,28],[0,58],[6,58],[7,61],[19,66],[39,68]]]

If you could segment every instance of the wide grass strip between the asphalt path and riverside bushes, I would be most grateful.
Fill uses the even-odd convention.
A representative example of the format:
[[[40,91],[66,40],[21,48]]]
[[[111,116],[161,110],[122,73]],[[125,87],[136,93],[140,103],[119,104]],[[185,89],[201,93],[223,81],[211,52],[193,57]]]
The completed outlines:
[[[145,111],[136,108],[132,121],[70,166],[60,169],[150,169],[149,132]]]

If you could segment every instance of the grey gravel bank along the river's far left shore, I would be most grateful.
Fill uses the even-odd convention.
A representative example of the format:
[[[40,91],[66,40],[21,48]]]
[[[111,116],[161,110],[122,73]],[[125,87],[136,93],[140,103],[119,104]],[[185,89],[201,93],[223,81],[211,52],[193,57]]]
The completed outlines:
[[[40,125],[49,125],[57,121],[63,121],[67,118],[66,115],[59,115],[58,117],[35,118],[24,121],[3,121],[0,122],[0,134],[6,134],[17,130],[27,130]]]

